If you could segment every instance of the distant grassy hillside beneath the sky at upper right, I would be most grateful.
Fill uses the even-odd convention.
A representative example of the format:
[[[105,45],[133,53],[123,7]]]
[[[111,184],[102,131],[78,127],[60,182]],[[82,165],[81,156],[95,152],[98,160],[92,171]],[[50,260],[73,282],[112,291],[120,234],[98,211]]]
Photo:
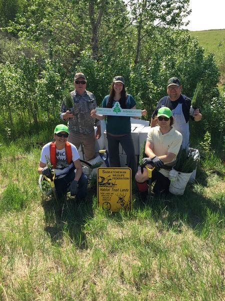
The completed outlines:
[[[197,37],[199,44],[207,52],[217,53],[218,44],[225,39],[225,29],[192,31],[192,37]]]

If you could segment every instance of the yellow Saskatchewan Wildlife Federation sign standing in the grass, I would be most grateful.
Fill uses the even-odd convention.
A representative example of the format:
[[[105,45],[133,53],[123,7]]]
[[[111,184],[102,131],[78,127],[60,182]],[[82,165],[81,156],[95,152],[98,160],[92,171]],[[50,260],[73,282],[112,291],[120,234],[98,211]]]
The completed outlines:
[[[97,203],[103,209],[117,212],[131,207],[131,169],[97,169]]]

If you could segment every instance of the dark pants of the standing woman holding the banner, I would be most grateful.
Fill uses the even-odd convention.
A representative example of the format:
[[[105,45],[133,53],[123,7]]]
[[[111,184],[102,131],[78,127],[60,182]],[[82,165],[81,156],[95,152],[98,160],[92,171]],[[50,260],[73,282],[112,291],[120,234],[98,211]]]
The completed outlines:
[[[122,145],[126,153],[126,164],[132,171],[132,177],[135,176],[137,166],[131,133],[124,136],[111,136],[107,134],[108,140],[108,155],[110,167],[120,167],[119,160],[119,143]]]

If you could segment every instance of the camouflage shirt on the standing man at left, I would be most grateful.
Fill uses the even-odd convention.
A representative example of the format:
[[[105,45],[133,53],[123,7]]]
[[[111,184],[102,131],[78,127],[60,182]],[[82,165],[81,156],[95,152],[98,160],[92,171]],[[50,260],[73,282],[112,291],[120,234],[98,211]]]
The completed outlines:
[[[93,126],[100,125],[100,120],[90,117],[90,111],[97,106],[93,93],[85,91],[83,95],[79,95],[76,91],[70,92],[73,99],[74,117],[68,119],[68,128],[72,132],[87,134],[93,131]],[[60,118],[62,114],[68,110],[64,101],[61,104]]]

